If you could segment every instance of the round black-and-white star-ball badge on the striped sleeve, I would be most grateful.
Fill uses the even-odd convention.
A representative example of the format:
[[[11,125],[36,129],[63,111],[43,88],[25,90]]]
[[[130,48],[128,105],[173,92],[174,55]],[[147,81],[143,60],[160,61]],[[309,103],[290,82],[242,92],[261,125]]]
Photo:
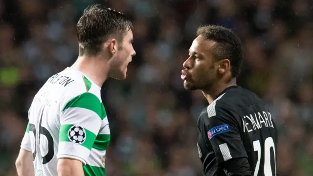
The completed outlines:
[[[75,144],[83,144],[86,140],[86,131],[83,127],[73,125],[68,130],[68,139]]]

